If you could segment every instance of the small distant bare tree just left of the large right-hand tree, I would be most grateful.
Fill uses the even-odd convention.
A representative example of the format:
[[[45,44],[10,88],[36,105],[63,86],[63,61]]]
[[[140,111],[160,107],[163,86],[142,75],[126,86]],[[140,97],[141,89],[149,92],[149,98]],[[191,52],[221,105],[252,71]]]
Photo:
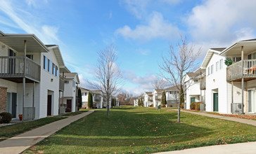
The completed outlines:
[[[157,94],[155,95],[155,104],[156,104],[156,110],[158,110],[158,102],[160,102],[161,100],[162,91],[165,89],[165,87],[167,87],[167,81],[162,78],[158,78],[154,81],[153,87],[157,92]],[[160,107],[160,112],[161,112],[161,107]]]

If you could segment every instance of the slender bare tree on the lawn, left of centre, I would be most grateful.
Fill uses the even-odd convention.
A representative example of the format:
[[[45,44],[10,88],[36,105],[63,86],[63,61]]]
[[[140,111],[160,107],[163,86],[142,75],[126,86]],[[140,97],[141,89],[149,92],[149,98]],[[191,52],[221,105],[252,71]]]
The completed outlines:
[[[110,97],[121,90],[123,85],[122,72],[116,64],[117,48],[110,44],[98,52],[98,60],[94,73],[96,84],[94,86],[101,90],[107,101],[107,116],[110,111]]]

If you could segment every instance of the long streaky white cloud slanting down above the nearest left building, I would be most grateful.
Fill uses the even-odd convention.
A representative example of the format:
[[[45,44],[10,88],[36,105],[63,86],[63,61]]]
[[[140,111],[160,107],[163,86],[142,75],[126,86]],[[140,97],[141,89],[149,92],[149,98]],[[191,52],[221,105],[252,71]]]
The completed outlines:
[[[28,1],[27,3],[34,2]],[[29,34],[35,34],[43,43],[60,43],[57,36],[57,27],[39,25],[39,17],[34,17],[31,13],[18,7],[19,6],[15,6],[14,3],[10,1],[1,1],[0,10],[6,13],[11,21],[20,27],[20,29],[23,29]]]

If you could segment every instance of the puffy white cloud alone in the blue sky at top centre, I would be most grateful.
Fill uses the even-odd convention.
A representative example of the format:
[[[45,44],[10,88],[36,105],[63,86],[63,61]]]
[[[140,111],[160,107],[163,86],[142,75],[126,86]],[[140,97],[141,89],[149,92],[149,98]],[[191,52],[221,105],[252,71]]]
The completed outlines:
[[[153,12],[148,17],[148,25],[137,25],[135,29],[125,25],[117,29],[115,34],[127,39],[149,41],[153,38],[176,38],[181,34],[181,31],[178,27],[164,20],[161,13]]]

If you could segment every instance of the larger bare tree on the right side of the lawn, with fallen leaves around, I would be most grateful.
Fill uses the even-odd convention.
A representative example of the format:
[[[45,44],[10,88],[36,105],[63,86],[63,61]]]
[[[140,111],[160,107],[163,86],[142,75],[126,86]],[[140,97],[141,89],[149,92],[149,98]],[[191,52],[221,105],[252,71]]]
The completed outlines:
[[[185,86],[184,78],[187,72],[195,71],[198,68],[196,59],[200,56],[201,49],[197,51],[194,49],[194,45],[188,45],[186,36],[181,36],[181,40],[177,43],[177,48],[173,45],[169,46],[169,56],[162,56],[162,64],[159,64],[160,69],[163,71],[162,76],[166,78],[169,83],[177,86],[179,90],[179,96],[181,96],[181,88],[184,92],[188,88]],[[181,97],[179,97],[179,110],[178,110],[178,123],[180,123],[180,106]]]

